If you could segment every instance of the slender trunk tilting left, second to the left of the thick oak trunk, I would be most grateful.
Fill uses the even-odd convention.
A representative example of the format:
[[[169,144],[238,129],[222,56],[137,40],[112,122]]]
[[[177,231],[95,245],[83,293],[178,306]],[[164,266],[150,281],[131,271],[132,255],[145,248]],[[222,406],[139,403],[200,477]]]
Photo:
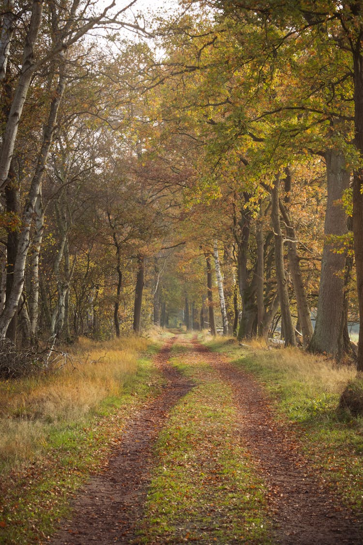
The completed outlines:
[[[281,320],[284,324],[285,346],[295,346],[296,338],[292,325],[290,300],[288,298],[287,280],[284,267],[284,241],[282,240],[279,217],[279,185],[280,175],[278,174],[275,178],[275,185],[270,190],[272,203],[271,221],[275,239],[276,280],[278,284]]]

